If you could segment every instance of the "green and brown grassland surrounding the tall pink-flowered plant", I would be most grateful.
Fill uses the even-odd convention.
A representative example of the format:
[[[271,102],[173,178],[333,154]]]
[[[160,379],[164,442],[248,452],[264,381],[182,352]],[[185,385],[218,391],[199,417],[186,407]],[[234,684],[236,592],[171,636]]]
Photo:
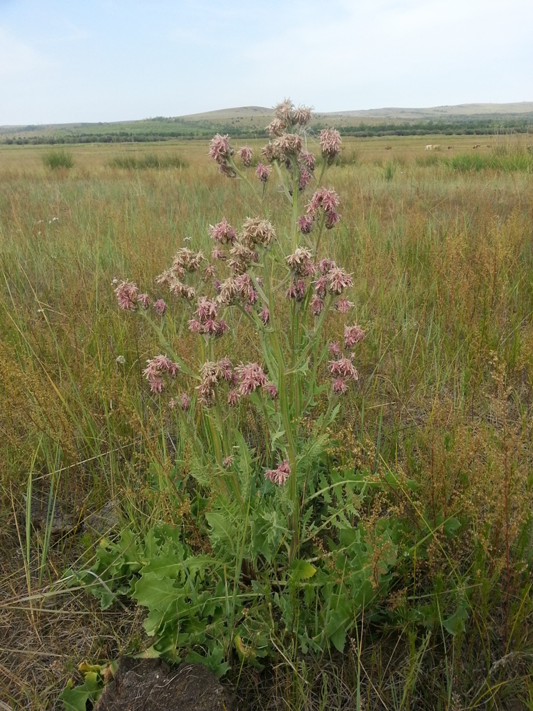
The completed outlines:
[[[323,250],[352,273],[367,331],[340,431],[363,469],[400,481],[367,520],[402,516],[421,538],[427,525],[432,545],[344,658],[280,650],[269,674],[245,670],[252,708],[533,708],[533,169],[524,138],[476,142],[473,160],[471,137],[348,139],[328,176],[342,220]],[[90,515],[116,502],[104,530],[139,534],[180,521],[160,485],[174,419],[141,378],[153,332],[119,314],[113,282],[166,297],[155,279],[178,247],[209,252],[208,225],[255,210],[206,141],[72,146],[55,171],[48,150],[0,146],[0,699],[16,710],[59,707],[84,658],[146,646],[141,609],[58,585],[92,560]],[[185,354],[182,321],[165,335]]]

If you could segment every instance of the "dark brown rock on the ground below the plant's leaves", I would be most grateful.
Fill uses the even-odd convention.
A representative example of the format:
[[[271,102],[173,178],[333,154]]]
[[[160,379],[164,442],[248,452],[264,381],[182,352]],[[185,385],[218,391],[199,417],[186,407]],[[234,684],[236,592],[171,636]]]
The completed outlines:
[[[202,664],[171,669],[161,659],[122,657],[95,711],[237,711],[237,706]]]

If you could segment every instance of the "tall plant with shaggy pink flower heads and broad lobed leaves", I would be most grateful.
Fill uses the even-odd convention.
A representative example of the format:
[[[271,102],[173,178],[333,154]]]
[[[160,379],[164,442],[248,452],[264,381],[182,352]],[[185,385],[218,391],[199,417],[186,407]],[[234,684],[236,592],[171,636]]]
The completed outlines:
[[[168,406],[178,413],[193,450],[190,474],[209,493],[199,528],[214,555],[212,584],[221,595],[225,589],[226,600],[227,578],[224,587],[217,565],[232,564],[235,571],[232,614],[222,635],[226,656],[232,647],[247,658],[268,651],[266,627],[276,623],[271,611],[266,614],[265,599],[274,599],[277,614],[304,651],[331,641],[342,648],[354,610],[375,597],[372,590],[385,584],[389,570],[382,562],[369,572],[372,566],[363,559],[370,549],[355,546],[362,535],[353,534],[360,482],[325,466],[328,429],[357,383],[355,349],[365,332],[350,319],[352,276],[328,255],[323,240],[340,221],[340,198],[324,184],[340,151],[340,135],[323,129],[315,155],[310,120],[310,109],[281,102],[255,169],[248,147],[235,151],[220,134],[210,142],[209,155],[223,176],[245,183],[258,205],[274,182],[286,198],[286,214],[266,219],[259,210],[243,216],[238,227],[222,217],[208,230],[210,254],[181,247],[157,279],[172,306],[163,299],[152,302],[131,282],[116,289],[125,311],[153,311],[165,319],[174,308],[185,311],[182,322],[197,339],[198,351],[190,358],[166,343],[166,353],[148,361],[144,376],[154,397],[170,393]],[[244,351],[237,343],[242,324],[252,343],[248,358],[235,357]],[[327,337],[332,329],[338,334],[333,340]],[[262,438],[240,424],[239,413],[250,408]],[[327,554],[321,537],[335,530]],[[344,577],[350,575],[354,587],[347,593]],[[143,577],[134,597],[151,607]],[[300,614],[301,594],[309,610],[314,605],[309,616]],[[165,614],[153,611],[147,631],[165,650],[176,629]],[[181,619],[181,612],[176,615]]]

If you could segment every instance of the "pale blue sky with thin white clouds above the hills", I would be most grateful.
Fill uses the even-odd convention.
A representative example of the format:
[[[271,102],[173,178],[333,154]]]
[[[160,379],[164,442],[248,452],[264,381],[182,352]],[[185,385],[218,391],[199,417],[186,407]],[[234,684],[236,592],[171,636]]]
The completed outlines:
[[[533,0],[0,0],[0,125],[533,101]]]

